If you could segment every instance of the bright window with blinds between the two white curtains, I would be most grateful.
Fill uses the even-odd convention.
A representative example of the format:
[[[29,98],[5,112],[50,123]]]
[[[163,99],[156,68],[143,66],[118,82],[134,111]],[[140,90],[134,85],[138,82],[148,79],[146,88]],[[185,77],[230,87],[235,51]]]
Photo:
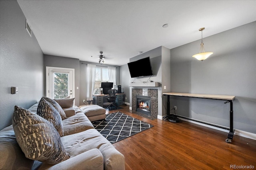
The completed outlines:
[[[108,82],[108,67],[96,66],[95,85],[93,94],[100,93],[101,82]]]

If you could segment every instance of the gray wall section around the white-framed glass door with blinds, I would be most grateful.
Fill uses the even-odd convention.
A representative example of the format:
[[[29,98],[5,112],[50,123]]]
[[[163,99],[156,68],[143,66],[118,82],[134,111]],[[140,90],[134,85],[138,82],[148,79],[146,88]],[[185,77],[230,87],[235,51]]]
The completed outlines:
[[[75,69],[75,105],[79,106],[79,59],[44,55],[44,96],[46,96],[46,66]],[[78,87],[78,89],[76,87]]]

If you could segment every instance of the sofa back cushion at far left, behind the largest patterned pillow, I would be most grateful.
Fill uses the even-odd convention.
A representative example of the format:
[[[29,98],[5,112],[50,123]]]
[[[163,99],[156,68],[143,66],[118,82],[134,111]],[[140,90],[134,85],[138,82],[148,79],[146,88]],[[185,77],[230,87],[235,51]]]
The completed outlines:
[[[0,131],[0,170],[31,170],[34,160],[26,158],[20,149],[12,125]]]

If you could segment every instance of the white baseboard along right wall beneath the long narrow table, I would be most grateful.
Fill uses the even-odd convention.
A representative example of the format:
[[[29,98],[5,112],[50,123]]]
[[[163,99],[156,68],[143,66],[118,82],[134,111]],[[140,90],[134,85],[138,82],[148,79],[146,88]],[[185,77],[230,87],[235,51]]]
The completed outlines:
[[[215,126],[211,126],[211,125],[206,125],[204,123],[200,123],[200,122],[197,122],[197,121],[184,119],[184,118],[181,118],[181,117],[179,117],[179,119],[181,119],[183,121],[190,122],[190,123],[195,123],[197,125],[201,125],[201,126],[204,126],[204,127],[209,127],[209,128],[212,128],[212,129],[216,129],[216,130],[219,130],[219,131],[223,131],[223,132],[229,133],[229,130],[222,129],[222,128],[219,128],[219,127],[215,127]],[[238,130],[238,129],[234,129],[234,135],[238,135],[238,136],[241,136],[241,137],[246,137],[246,138],[249,138],[249,139],[256,140],[256,134],[250,133],[250,132],[246,132],[246,131],[241,131],[241,130]]]

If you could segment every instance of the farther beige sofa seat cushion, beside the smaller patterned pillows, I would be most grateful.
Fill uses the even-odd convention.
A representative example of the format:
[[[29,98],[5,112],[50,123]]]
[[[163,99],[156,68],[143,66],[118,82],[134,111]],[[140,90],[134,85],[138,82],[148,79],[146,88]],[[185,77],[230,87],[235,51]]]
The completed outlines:
[[[74,116],[67,117],[67,119],[62,121],[62,123],[64,136],[86,131],[87,129],[94,129],[88,117],[86,117],[82,112],[77,113]]]

